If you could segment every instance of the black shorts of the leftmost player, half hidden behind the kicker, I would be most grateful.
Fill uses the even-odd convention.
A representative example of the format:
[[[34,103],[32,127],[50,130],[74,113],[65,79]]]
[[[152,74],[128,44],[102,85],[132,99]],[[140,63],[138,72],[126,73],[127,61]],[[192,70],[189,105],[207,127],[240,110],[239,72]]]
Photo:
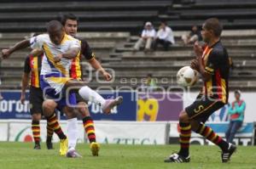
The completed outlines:
[[[29,104],[30,113],[43,115],[42,104],[44,102],[42,89],[39,87],[30,87],[29,91]]]

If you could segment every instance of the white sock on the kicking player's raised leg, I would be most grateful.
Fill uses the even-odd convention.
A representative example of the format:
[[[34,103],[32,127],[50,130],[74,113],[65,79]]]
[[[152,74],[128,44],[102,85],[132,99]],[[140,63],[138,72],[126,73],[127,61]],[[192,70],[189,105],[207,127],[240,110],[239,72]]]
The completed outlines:
[[[96,104],[104,105],[106,103],[106,100],[102,98],[102,96],[99,93],[96,93],[96,91],[92,90],[90,87],[81,87],[79,89],[79,95],[88,101],[91,101]]]

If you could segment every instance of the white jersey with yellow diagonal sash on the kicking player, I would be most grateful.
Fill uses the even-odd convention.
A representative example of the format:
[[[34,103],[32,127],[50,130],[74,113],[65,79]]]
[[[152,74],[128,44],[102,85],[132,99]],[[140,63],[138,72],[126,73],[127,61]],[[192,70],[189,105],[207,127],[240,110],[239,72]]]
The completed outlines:
[[[58,54],[64,54],[71,48],[80,48],[80,41],[74,37],[64,35],[61,43],[56,45],[50,41],[48,34],[41,34],[30,39],[33,49],[43,49],[42,68],[40,83],[42,89],[51,87],[55,89],[55,94],[60,93],[65,83],[71,79],[69,70],[72,59],[61,58],[60,62],[55,62],[54,58]]]

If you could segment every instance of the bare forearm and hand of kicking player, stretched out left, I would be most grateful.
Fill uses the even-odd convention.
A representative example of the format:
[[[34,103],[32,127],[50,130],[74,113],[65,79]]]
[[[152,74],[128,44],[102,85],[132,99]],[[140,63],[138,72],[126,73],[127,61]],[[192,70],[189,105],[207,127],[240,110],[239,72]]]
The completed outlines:
[[[22,48],[27,48],[29,46],[30,46],[29,40],[23,40],[23,41],[17,42],[15,46],[8,49],[3,49],[1,57],[3,59],[8,59],[10,54],[13,54],[15,51],[20,50]]]

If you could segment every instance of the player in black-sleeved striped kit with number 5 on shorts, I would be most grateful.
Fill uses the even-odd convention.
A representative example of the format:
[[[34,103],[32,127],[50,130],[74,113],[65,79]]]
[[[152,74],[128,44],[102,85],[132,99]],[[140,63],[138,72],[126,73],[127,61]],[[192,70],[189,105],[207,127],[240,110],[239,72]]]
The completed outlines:
[[[191,62],[191,67],[201,73],[204,87],[195,102],[189,105],[179,115],[180,150],[172,154],[165,162],[189,162],[189,140],[191,131],[201,134],[222,149],[222,162],[230,161],[231,155],[236,151],[236,146],[224,141],[212,128],[205,126],[205,122],[212,113],[224,104],[229,97],[229,56],[227,50],[220,42],[223,27],[218,19],[211,18],[202,25],[203,41],[207,43],[204,50],[196,42],[194,51],[196,59]]]

